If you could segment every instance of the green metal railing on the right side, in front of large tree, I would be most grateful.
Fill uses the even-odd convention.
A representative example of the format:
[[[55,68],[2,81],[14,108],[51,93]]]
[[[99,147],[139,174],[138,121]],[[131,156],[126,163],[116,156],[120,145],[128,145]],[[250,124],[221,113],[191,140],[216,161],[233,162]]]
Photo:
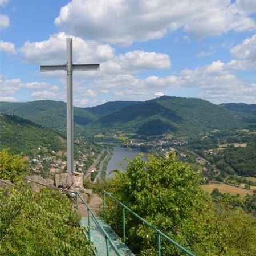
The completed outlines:
[[[180,249],[186,255],[195,256],[190,251],[186,250],[184,247],[182,247],[177,242],[175,242],[173,239],[169,238],[166,234],[162,233],[159,229],[157,229],[156,227],[152,226],[149,222],[147,222],[146,220],[141,218],[137,213],[133,212],[126,205],[124,205],[122,202],[117,200],[115,197],[113,197],[110,193],[108,193],[105,190],[103,192],[103,205],[104,205],[104,209],[106,209],[106,207],[107,207],[106,196],[110,197],[113,201],[115,201],[117,204],[122,206],[122,209],[123,209],[123,242],[124,243],[125,243],[125,240],[126,240],[126,237],[125,237],[125,210],[127,210],[129,213],[133,214],[133,216],[138,218],[145,225],[147,225],[148,227],[151,227],[151,229],[155,230],[155,232],[157,234],[157,253],[158,253],[157,255],[158,256],[161,256],[161,237],[165,238],[168,242],[172,243],[172,245],[174,247],[177,247],[178,249]]]

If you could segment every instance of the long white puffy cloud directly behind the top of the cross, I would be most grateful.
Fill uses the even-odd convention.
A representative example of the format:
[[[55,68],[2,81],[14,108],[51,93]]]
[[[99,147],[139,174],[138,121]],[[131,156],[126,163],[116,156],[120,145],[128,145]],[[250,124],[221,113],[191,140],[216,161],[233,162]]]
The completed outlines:
[[[52,35],[41,42],[26,42],[19,51],[23,59],[32,64],[64,64],[66,63],[66,38],[63,32]],[[100,63],[100,72],[76,72],[78,77],[95,77],[109,74],[139,73],[145,70],[159,70],[170,68],[171,62],[167,54],[145,52],[141,50],[129,51],[115,55],[115,50],[109,44],[99,44],[95,41],[85,41],[73,38],[74,63]],[[59,76],[62,72],[51,72],[48,75]]]

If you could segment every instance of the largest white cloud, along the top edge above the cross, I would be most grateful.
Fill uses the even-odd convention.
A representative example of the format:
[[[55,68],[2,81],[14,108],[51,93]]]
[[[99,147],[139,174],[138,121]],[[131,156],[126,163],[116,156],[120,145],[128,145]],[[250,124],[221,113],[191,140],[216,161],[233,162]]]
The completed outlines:
[[[121,44],[162,38],[179,28],[198,37],[255,30],[238,6],[230,0],[72,0],[55,25],[68,34]]]

